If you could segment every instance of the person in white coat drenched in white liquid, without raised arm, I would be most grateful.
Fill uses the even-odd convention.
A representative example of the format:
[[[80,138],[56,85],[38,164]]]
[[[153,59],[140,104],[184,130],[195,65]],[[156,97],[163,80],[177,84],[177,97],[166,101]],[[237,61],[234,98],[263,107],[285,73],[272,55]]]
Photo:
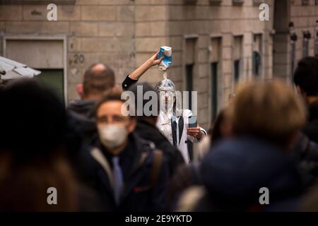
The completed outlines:
[[[184,162],[189,163],[188,142],[199,142],[207,133],[199,126],[189,128],[192,111],[177,106],[175,84],[171,80],[160,81],[155,85],[155,91],[160,99],[157,127],[180,150]]]

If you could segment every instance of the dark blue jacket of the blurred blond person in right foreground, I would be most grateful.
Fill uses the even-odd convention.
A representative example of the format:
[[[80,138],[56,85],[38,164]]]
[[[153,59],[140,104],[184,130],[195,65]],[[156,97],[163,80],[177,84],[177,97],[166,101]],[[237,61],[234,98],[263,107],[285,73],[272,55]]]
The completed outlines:
[[[221,141],[200,171],[215,210],[298,210],[304,189],[291,157],[255,138]],[[269,189],[269,205],[259,204],[262,187]]]

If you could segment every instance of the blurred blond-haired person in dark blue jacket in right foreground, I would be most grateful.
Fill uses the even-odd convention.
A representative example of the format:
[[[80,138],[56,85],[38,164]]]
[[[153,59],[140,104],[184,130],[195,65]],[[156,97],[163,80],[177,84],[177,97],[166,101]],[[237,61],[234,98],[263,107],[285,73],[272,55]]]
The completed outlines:
[[[278,81],[246,83],[230,111],[232,138],[211,148],[200,172],[216,210],[295,210],[302,177],[290,157],[305,124],[305,107]],[[268,189],[269,202],[261,196]],[[262,205],[261,201],[268,205]]]

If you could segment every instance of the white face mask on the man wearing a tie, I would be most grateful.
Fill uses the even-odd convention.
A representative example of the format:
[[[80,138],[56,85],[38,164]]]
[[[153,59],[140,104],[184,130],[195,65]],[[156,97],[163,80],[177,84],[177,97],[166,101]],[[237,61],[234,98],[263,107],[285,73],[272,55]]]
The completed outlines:
[[[102,145],[112,150],[122,145],[129,133],[122,124],[109,124],[98,126],[98,134]]]

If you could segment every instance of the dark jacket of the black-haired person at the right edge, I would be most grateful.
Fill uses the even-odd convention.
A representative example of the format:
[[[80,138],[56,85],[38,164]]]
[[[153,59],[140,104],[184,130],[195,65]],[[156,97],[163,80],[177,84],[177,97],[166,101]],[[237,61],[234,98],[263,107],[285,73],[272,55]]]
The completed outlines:
[[[309,118],[302,130],[311,141],[318,143],[318,101],[308,108]]]

